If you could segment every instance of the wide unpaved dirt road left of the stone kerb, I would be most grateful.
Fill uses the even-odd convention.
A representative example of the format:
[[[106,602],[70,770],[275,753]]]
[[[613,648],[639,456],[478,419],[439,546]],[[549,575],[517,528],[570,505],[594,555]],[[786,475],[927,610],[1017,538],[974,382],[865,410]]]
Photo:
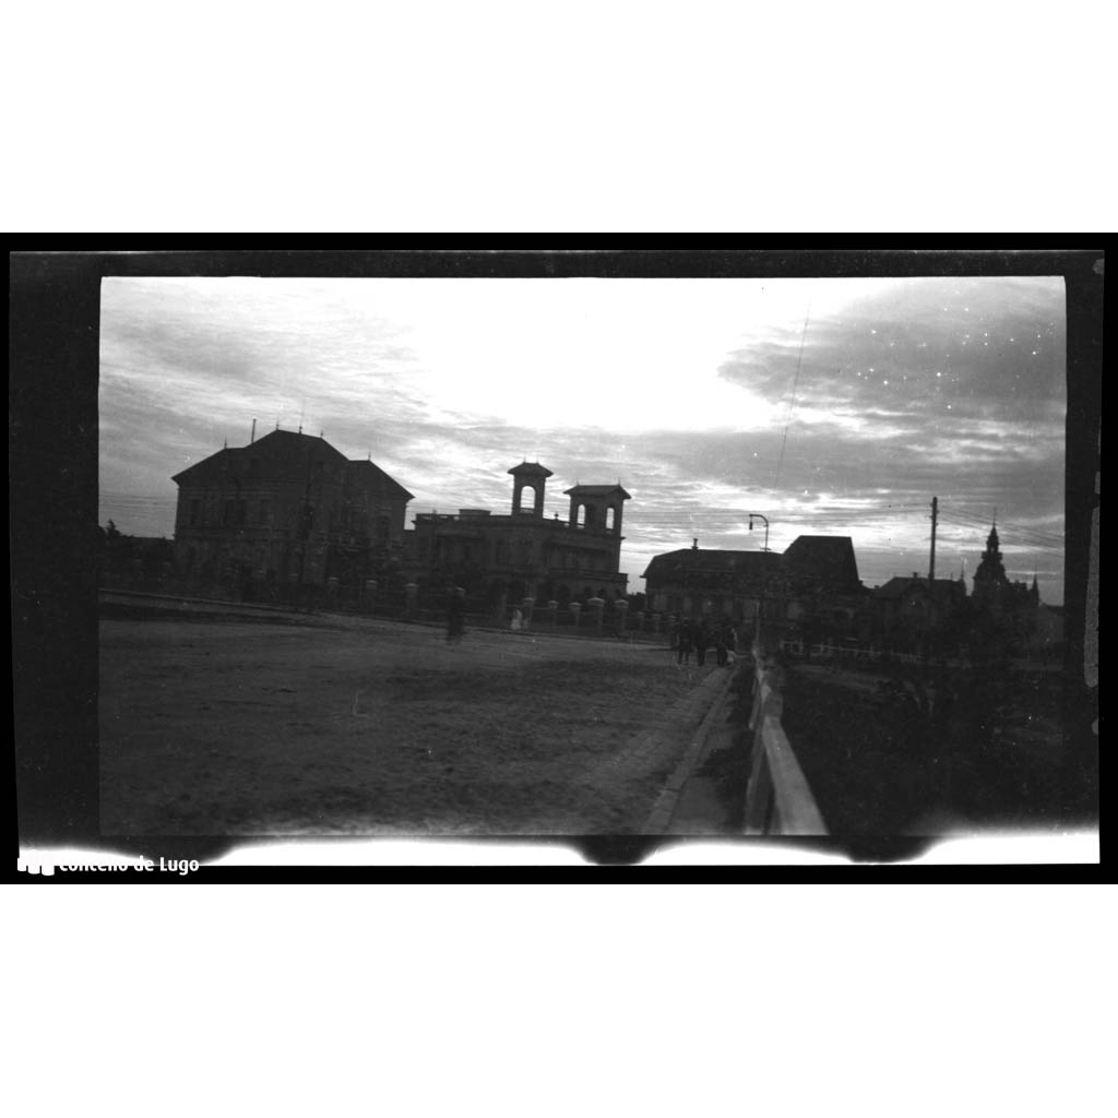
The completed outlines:
[[[633,833],[712,671],[647,645],[498,632],[448,645],[367,618],[105,619],[102,830]]]

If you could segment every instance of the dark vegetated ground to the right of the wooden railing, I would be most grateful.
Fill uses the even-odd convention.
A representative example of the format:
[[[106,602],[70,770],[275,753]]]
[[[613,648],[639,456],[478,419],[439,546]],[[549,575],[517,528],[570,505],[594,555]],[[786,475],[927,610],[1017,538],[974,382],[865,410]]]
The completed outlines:
[[[1058,827],[1062,676],[944,670],[855,689],[788,673],[784,727],[833,834]]]

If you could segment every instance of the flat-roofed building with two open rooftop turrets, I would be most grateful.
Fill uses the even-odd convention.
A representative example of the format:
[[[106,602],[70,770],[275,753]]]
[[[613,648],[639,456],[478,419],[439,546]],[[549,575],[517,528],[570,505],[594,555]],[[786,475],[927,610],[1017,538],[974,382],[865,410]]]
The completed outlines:
[[[404,567],[421,588],[440,590],[447,582],[491,601],[504,597],[540,604],[625,595],[620,572],[622,521],[629,494],[617,485],[575,485],[567,520],[543,509],[551,471],[522,462],[513,477],[512,509],[459,509],[457,513],[419,513],[405,532]]]

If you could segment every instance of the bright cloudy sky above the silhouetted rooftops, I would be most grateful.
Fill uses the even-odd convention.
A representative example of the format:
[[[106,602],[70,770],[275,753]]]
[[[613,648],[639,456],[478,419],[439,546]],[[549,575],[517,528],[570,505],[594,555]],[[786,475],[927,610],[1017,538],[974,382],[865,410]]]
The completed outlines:
[[[690,547],[850,536],[866,586],[1063,600],[1061,277],[102,282],[101,522],[174,530],[171,476],[278,424],[372,458],[416,512],[511,508],[511,466],[620,482],[629,589]]]

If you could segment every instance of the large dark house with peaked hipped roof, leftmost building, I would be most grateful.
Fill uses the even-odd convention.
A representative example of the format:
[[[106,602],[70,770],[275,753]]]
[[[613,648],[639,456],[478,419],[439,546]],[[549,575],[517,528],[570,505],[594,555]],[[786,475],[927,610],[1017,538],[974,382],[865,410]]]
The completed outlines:
[[[399,556],[411,500],[372,462],[278,428],[172,481],[176,565],[203,582],[360,587]]]

